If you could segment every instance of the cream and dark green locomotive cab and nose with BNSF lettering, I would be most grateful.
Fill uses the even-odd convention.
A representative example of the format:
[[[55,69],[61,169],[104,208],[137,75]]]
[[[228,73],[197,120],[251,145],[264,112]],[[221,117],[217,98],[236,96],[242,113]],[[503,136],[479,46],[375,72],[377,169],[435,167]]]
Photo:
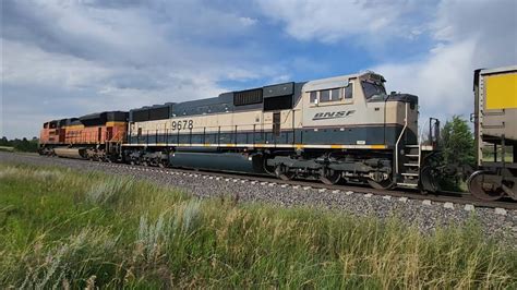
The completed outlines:
[[[311,142],[387,149],[406,126],[402,142],[417,143],[418,97],[387,95],[384,82],[382,75],[369,72],[305,84],[303,126],[318,132],[312,133]]]

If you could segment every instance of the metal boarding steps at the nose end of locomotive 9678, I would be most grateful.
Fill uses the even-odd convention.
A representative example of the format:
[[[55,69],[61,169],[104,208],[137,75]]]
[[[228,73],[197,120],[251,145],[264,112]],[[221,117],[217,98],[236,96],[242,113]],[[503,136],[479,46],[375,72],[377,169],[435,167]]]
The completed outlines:
[[[401,182],[397,182],[400,188],[417,189],[419,186],[420,167],[422,159],[422,146],[406,145],[404,154],[400,156],[402,166],[399,167]]]

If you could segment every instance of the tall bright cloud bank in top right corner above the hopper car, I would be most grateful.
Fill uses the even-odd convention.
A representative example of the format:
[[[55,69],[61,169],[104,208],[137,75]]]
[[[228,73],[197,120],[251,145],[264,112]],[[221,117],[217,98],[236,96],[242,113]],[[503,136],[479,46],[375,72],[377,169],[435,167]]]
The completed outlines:
[[[419,95],[423,117],[468,118],[473,71],[517,64],[517,2],[442,1],[430,27],[435,46],[424,58],[373,70],[389,88]]]

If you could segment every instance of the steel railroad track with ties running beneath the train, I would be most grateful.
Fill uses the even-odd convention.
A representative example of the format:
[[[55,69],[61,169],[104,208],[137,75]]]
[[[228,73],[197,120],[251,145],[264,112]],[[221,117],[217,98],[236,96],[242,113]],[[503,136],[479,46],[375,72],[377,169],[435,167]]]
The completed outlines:
[[[38,159],[50,159],[49,157],[39,156],[36,154],[23,154],[25,157],[38,158]],[[55,157],[56,158],[56,157]],[[89,160],[80,160],[80,159],[67,159],[74,160],[77,162],[89,162],[98,165],[99,167],[107,168],[124,168],[134,171],[151,171],[161,174],[188,174],[188,176],[199,176],[200,178],[211,178],[218,180],[228,180],[228,181],[249,181],[255,182],[257,185],[278,185],[278,186],[293,186],[302,189],[315,189],[321,190],[322,193],[325,191],[333,192],[353,192],[353,193],[363,193],[363,194],[374,194],[380,196],[385,196],[386,198],[408,198],[417,201],[429,201],[432,203],[450,203],[457,205],[471,205],[474,207],[486,207],[486,208],[502,208],[507,210],[517,210],[517,203],[512,200],[503,200],[496,202],[483,202],[474,198],[469,193],[464,192],[440,192],[440,194],[421,194],[417,191],[411,190],[376,190],[372,188],[361,186],[361,185],[350,185],[350,184],[335,184],[328,185],[320,183],[317,181],[302,181],[302,180],[290,180],[285,181],[276,179],[274,177],[267,176],[257,176],[257,174],[243,174],[243,173],[233,173],[233,172],[219,172],[219,171],[206,171],[199,169],[182,169],[182,168],[159,168],[159,167],[145,167],[136,165],[127,165],[127,164],[116,164],[116,162],[99,162],[99,161],[89,161]]]

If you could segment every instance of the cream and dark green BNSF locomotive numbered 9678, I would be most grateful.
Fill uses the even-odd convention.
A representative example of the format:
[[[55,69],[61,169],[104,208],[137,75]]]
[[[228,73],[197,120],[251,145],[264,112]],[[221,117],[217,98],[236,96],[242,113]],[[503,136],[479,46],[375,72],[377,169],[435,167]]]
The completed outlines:
[[[133,109],[124,159],[435,191],[418,97],[386,94],[384,82],[365,72]]]

